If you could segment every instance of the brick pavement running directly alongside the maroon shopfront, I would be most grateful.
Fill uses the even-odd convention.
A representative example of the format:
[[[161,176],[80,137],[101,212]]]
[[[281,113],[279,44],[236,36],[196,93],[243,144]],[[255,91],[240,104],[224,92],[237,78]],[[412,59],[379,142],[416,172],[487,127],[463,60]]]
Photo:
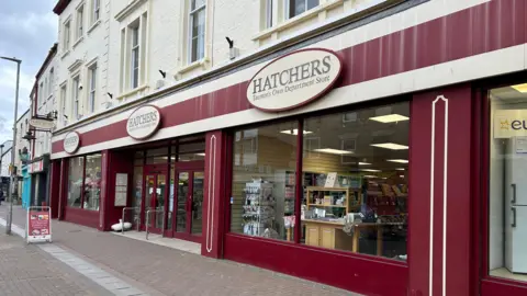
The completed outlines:
[[[5,206],[0,206],[4,217]],[[23,227],[25,212],[14,208]],[[357,295],[226,260],[137,241],[64,221],[53,221],[55,244],[81,254],[116,275],[164,295]]]

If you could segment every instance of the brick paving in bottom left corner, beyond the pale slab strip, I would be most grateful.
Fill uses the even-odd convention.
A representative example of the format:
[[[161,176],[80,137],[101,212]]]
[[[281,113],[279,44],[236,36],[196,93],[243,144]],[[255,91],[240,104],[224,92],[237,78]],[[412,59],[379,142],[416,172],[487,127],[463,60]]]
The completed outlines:
[[[112,295],[0,227],[0,295]]]

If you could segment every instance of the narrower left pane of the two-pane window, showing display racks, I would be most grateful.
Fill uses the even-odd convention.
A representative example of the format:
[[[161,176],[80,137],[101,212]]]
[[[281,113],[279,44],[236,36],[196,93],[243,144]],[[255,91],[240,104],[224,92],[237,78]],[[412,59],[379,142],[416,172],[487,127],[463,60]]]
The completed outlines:
[[[235,133],[231,231],[292,240],[298,123]]]

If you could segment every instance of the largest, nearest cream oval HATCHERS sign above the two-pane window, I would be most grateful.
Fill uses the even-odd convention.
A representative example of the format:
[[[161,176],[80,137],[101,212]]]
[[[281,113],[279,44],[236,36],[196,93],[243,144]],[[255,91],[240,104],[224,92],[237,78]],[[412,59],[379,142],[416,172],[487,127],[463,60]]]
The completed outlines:
[[[307,104],[332,89],[343,69],[339,56],[309,48],[280,57],[249,81],[247,100],[261,111],[285,111]]]

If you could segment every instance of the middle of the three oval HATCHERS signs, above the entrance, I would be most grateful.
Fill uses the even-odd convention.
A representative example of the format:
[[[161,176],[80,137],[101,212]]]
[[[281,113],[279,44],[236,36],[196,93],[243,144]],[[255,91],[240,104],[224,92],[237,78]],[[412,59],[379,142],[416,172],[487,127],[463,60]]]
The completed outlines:
[[[134,139],[146,139],[159,129],[161,112],[157,106],[144,105],[130,114],[126,132]]]

